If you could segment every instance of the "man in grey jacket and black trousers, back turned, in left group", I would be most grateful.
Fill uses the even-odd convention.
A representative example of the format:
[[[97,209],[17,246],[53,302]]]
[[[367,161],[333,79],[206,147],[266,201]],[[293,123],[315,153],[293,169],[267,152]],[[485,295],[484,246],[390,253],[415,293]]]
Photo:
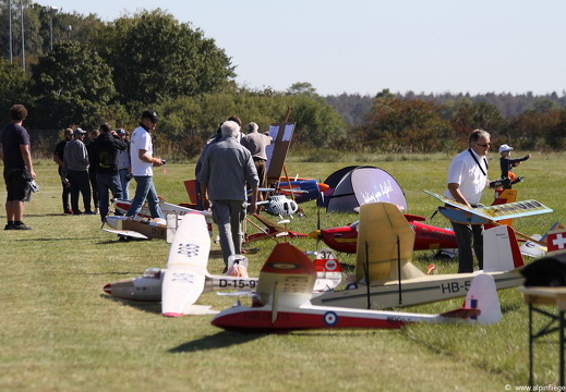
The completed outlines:
[[[86,131],[77,127],[73,131],[73,139],[67,143],[63,152],[63,170],[61,180],[69,180],[71,185],[71,209],[74,216],[94,215],[91,209],[91,183],[88,182],[88,152],[84,145]],[[83,195],[84,212],[79,209],[79,193]]]

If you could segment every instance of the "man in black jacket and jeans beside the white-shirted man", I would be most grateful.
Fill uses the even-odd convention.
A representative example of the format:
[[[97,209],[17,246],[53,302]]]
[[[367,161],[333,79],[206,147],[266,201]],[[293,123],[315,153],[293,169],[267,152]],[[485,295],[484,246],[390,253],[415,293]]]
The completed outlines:
[[[112,192],[115,198],[122,198],[116,156],[118,151],[125,150],[128,145],[116,132],[110,131],[110,124],[104,123],[100,125],[100,134],[91,146],[91,163],[95,166],[98,208],[104,223],[108,216],[108,191]]]

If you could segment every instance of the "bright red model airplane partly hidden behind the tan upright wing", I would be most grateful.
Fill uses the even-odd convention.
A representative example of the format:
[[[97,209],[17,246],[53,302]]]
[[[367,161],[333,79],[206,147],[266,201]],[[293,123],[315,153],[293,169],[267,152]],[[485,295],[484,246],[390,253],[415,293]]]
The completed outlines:
[[[458,247],[454,231],[422,223],[422,221],[424,221],[423,217],[409,213],[405,213],[404,216],[416,233],[413,250],[454,249]],[[356,221],[341,228],[316,230],[310,233],[309,236],[315,240],[322,240],[336,252],[354,254],[358,246],[359,223],[360,221]]]

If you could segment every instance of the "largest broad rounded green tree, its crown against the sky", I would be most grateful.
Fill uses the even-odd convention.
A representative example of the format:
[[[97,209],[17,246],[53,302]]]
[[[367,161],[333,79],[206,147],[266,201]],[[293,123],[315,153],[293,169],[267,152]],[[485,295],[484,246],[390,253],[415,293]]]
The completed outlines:
[[[234,76],[230,59],[213,39],[159,9],[108,24],[96,48],[113,69],[122,103],[213,93]]]

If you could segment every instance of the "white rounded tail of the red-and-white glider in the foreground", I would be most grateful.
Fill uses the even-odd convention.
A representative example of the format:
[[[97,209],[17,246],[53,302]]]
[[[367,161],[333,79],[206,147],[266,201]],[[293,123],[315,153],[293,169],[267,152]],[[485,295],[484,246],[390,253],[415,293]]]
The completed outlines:
[[[444,313],[441,317],[445,320],[456,318],[482,324],[492,324],[499,321],[502,309],[493,277],[486,273],[475,275],[462,307]]]

